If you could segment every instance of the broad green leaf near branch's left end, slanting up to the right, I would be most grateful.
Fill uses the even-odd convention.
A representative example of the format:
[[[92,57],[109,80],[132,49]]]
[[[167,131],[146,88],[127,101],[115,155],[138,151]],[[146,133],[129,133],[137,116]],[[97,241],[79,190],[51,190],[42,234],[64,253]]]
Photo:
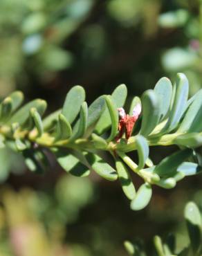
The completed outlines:
[[[18,122],[19,125],[23,125],[26,120],[28,120],[30,115],[30,109],[35,108],[39,112],[40,116],[43,116],[46,110],[46,101],[45,100],[33,100],[24,107],[21,107],[11,118],[8,120],[8,125],[12,125],[13,122]]]

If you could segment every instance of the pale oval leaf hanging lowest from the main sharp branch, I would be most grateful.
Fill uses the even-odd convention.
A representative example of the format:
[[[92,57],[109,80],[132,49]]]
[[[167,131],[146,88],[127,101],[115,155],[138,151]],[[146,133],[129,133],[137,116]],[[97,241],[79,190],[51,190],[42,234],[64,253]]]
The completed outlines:
[[[152,197],[152,187],[149,183],[144,183],[138,189],[135,198],[131,201],[131,210],[142,210],[147,206]]]

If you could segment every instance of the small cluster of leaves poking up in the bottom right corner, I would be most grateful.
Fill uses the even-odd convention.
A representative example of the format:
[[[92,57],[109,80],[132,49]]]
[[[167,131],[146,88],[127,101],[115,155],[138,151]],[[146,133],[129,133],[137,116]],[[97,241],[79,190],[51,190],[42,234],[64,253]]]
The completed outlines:
[[[143,243],[131,243],[131,241],[125,241],[125,248],[129,255],[158,255],[158,256],[192,256],[201,255],[202,253],[202,221],[201,212],[196,203],[190,201],[185,206],[184,212],[185,221],[187,224],[187,232],[190,242],[186,244],[183,242],[182,246],[177,244],[177,235],[169,234],[165,239],[162,239],[158,235],[154,237],[153,252],[150,249],[149,253],[143,246]],[[154,253],[155,251],[155,253]]]

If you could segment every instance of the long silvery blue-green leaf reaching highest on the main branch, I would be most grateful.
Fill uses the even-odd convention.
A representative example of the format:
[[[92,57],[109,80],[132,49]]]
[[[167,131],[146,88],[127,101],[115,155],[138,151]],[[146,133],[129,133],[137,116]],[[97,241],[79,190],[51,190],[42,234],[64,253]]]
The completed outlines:
[[[176,93],[172,109],[169,113],[169,118],[162,132],[169,132],[176,128],[178,122],[184,113],[187,104],[189,92],[189,82],[183,73],[178,73],[176,77]]]

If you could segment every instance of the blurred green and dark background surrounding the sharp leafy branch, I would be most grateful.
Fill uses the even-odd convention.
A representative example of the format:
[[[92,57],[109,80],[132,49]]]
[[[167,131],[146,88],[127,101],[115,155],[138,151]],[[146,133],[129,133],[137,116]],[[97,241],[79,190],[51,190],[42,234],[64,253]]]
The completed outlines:
[[[50,113],[75,84],[90,103],[125,83],[129,104],[177,72],[192,95],[202,84],[201,44],[201,0],[1,0],[0,98],[19,89],[26,101],[47,100]],[[174,149],[152,149],[154,163]],[[154,235],[172,231],[185,244],[183,207],[190,199],[202,207],[200,176],[154,188],[149,206],[133,212],[118,182],[75,178],[49,158],[39,176],[0,149],[0,256],[126,256],[125,239],[141,237],[150,252]]]

